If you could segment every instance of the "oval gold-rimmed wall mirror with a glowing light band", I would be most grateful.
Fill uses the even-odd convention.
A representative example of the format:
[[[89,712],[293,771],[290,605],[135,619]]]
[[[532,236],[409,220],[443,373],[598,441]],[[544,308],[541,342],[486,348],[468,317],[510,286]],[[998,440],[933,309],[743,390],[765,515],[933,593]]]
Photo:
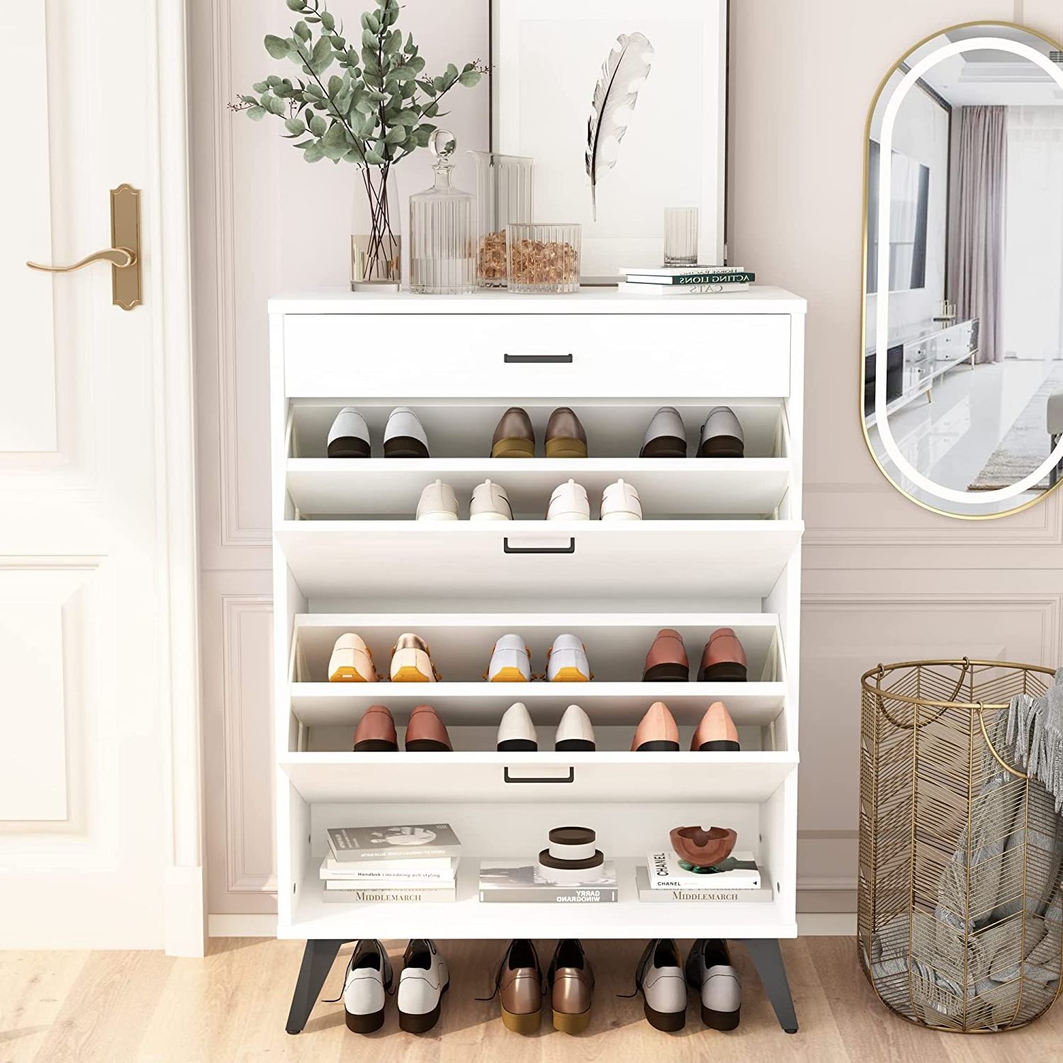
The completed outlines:
[[[981,22],[913,48],[867,116],[862,389],[875,460],[968,519],[1063,478],[1063,49]]]

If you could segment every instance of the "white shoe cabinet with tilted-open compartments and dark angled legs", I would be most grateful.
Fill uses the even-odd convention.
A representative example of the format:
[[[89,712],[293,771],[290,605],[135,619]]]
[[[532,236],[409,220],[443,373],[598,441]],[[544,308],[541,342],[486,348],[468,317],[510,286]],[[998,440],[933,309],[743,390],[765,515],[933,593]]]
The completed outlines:
[[[288,1017],[299,1032],[344,941],[727,938],[744,941],[782,1027],[796,1029],[778,941],[796,935],[797,689],[800,628],[805,302],[758,287],[712,299],[615,291],[449,298],[352,296],[270,303],[274,528],[276,814],[281,938],[307,942]],[[697,458],[708,410],[727,404],[745,457]],[[362,411],[372,456],[328,459],[340,407]],[[426,459],[385,459],[389,411],[412,407]],[[679,409],[686,459],[639,458],[662,405]],[[571,406],[590,457],[491,459],[491,434],[523,406],[543,451],[546,420]],[[589,522],[544,520],[569,477],[591,497]],[[642,500],[641,522],[597,520],[619,477]],[[502,484],[512,522],[414,519],[440,478],[468,517],[472,488]],[[643,684],[661,627],[682,632],[692,674],[718,627],[749,659],[745,684]],[[330,684],[332,644],[359,634],[387,678],[403,631],[422,635],[438,684]],[[563,631],[587,646],[588,684],[488,684],[494,640],[522,635],[535,671]],[[672,709],[679,753],[630,753],[654,701]],[[723,699],[740,753],[688,753],[705,709]],[[503,711],[524,702],[553,749],[576,703],[595,753],[496,753]],[[451,754],[352,753],[365,709],[400,727],[433,705]],[[332,826],[448,821],[466,853],[452,904],[324,902],[318,866]],[[482,905],[482,857],[538,851],[551,827],[597,831],[617,861],[620,900],[595,907]],[[729,826],[754,850],[771,902],[641,904],[635,866],[672,827]]]

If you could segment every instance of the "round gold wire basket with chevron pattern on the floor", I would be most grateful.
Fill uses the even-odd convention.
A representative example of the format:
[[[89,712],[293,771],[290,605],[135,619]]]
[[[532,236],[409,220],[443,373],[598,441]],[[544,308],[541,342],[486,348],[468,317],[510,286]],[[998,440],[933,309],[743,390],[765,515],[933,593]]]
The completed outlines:
[[[912,1023],[1013,1029],[1059,995],[1061,817],[1007,741],[1010,699],[1052,675],[964,658],[861,678],[860,962]]]

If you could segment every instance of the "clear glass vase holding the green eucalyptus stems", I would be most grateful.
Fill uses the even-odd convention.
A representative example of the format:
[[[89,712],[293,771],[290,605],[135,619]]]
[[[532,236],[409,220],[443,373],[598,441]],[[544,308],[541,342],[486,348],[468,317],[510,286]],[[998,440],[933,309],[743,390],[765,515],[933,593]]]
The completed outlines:
[[[358,167],[351,225],[351,290],[398,291],[402,223],[393,168]]]

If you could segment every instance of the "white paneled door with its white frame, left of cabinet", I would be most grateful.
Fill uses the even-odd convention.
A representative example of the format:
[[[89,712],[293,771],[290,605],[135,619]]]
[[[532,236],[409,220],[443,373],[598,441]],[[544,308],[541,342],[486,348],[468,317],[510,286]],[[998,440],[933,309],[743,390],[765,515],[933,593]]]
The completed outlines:
[[[195,952],[183,3],[3,3],[0,34],[0,947]],[[27,268],[111,248],[122,184],[142,305]]]

